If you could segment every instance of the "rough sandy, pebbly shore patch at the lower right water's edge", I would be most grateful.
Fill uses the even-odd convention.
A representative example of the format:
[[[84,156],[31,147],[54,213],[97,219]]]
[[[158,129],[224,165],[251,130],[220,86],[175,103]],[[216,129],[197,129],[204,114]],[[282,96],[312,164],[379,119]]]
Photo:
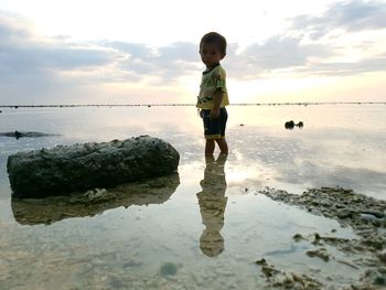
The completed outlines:
[[[313,250],[304,255],[329,262],[335,257],[330,254],[325,245],[336,248],[344,254],[345,260],[337,260],[363,273],[356,283],[344,289],[385,289],[386,287],[386,202],[351,190],[341,187],[321,187],[308,190],[301,195],[286,191],[267,189],[259,192],[279,203],[298,206],[309,213],[333,218],[342,227],[352,227],[355,238],[322,236],[319,233],[303,236],[293,233],[294,241],[308,241],[314,245]],[[360,256],[360,258],[358,258]],[[270,265],[261,257],[256,261],[261,268],[267,286],[285,289],[325,289],[318,279],[288,270],[281,270]],[[335,288],[334,288],[335,289]]]

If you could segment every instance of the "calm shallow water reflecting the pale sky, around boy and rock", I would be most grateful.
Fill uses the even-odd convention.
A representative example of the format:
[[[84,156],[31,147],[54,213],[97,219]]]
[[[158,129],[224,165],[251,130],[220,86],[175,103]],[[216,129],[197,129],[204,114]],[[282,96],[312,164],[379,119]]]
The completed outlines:
[[[304,255],[296,233],[352,237],[335,221],[278,204],[266,186],[353,189],[386,198],[385,105],[232,106],[226,161],[206,160],[193,107],[2,109],[0,289],[256,289],[256,260],[343,286],[362,272]],[[303,121],[286,130],[285,122]],[[11,201],[7,158],[20,150],[150,135],[180,152],[178,175],[110,189],[115,202]],[[217,154],[216,154],[217,155]]]

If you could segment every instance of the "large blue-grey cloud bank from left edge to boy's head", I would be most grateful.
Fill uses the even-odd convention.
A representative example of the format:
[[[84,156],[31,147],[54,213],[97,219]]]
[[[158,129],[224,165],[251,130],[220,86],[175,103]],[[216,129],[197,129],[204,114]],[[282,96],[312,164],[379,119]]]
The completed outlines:
[[[79,43],[37,35],[25,19],[0,11],[0,104],[67,103],[88,98],[87,88],[114,84],[168,86],[196,72],[199,63],[193,43]],[[60,100],[64,95],[67,99]]]

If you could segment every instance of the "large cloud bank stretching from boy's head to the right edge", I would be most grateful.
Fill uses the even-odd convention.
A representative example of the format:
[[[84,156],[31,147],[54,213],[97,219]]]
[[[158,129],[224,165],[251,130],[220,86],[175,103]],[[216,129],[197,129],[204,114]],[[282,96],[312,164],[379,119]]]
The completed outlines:
[[[386,36],[385,14],[385,2],[340,1],[321,15],[291,18],[280,35],[243,51],[230,47],[229,71],[246,80],[276,74],[301,77],[385,72],[386,42],[380,36]]]

